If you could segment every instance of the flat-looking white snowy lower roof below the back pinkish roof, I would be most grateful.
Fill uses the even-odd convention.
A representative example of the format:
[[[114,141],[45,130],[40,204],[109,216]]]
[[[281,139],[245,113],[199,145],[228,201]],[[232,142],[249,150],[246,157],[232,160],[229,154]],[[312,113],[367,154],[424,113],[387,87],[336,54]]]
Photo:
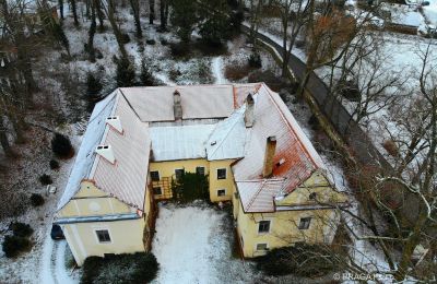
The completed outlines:
[[[205,158],[205,142],[215,125],[152,127],[153,161]]]

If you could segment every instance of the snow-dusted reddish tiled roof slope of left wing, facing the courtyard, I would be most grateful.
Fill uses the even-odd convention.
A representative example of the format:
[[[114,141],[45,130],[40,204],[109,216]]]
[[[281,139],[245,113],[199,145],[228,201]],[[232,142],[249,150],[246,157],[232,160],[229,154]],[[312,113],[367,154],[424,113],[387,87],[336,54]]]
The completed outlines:
[[[141,122],[120,92],[111,116],[118,116],[123,132],[107,126],[101,144],[110,145],[115,164],[95,158],[88,179],[101,190],[133,208],[143,209],[151,140],[147,123]]]

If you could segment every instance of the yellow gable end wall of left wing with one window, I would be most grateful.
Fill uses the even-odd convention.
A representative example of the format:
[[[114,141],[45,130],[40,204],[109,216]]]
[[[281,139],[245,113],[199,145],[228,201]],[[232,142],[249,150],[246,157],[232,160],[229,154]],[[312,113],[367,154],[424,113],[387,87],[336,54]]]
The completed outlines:
[[[150,214],[150,194],[146,194],[143,217],[115,222],[88,222],[61,225],[66,239],[79,265],[86,257],[104,253],[144,251],[143,232]],[[93,182],[82,181],[79,192],[58,212],[59,217],[99,216],[137,213],[116,198],[99,190]],[[111,241],[98,242],[95,229],[108,229]],[[129,233],[129,234],[127,234]]]

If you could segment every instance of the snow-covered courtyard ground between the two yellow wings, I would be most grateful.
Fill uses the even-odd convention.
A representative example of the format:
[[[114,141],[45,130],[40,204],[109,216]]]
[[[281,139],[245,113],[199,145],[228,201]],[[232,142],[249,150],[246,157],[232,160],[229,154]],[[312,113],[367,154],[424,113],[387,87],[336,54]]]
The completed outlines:
[[[234,228],[227,213],[196,203],[160,204],[152,252],[155,283],[253,283],[252,264],[232,256]]]

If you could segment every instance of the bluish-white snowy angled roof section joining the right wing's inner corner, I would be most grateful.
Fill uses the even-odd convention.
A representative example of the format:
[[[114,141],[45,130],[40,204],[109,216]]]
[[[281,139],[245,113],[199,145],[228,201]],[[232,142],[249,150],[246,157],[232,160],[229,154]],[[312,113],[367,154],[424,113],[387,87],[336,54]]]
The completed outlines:
[[[205,144],[209,161],[245,156],[246,139],[250,134],[245,127],[245,110],[244,105],[231,117],[217,123]]]

